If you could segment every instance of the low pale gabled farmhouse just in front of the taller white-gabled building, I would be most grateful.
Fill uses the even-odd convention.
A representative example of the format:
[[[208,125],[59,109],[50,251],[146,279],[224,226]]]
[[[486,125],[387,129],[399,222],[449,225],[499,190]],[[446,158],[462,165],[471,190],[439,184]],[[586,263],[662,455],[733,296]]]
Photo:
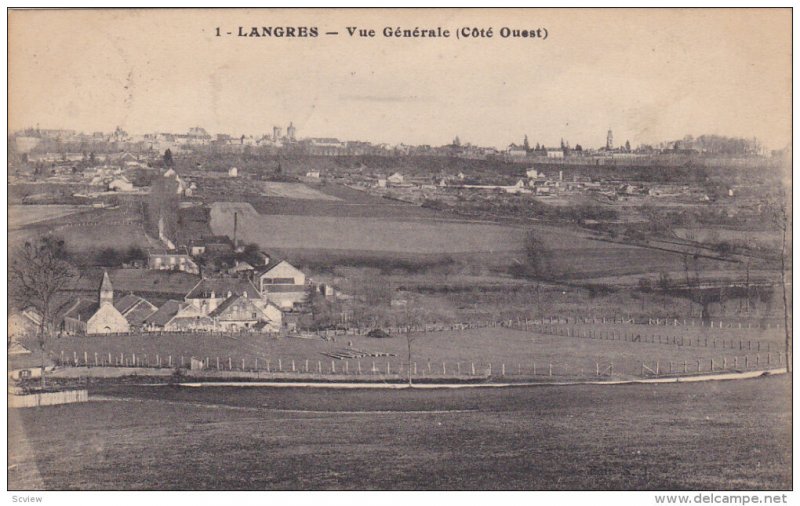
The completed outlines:
[[[214,321],[215,329],[221,331],[277,332],[281,328],[283,313],[271,302],[264,303],[248,297],[245,291],[241,295],[228,297],[209,316]]]

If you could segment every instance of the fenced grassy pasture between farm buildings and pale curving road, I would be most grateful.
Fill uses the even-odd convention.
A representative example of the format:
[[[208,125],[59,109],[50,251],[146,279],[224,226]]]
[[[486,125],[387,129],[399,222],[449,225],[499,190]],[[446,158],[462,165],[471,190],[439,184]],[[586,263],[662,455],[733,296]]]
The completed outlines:
[[[638,327],[638,328],[634,328]],[[559,328],[559,327],[556,327]],[[504,327],[440,331],[417,334],[412,344],[412,361],[419,376],[441,377],[442,375],[486,375],[495,377],[505,373],[507,377],[594,377],[598,368],[604,375],[613,364],[614,377],[639,377],[642,364],[651,369],[659,362],[660,372],[682,372],[684,362],[689,373],[709,372],[711,359],[717,371],[742,370],[760,367],[780,367],[778,353],[783,351],[782,342],[773,330],[771,334],[756,330],[739,332],[711,331],[690,328],[676,331],[671,327],[637,326],[572,326],[579,337],[561,335],[567,327],[554,333],[525,332]],[[596,333],[588,337],[588,329]],[[560,334],[558,333],[560,332]],[[614,332],[616,339],[609,339]],[[587,337],[582,337],[582,336]],[[640,342],[629,342],[638,335]],[[671,336],[681,336],[673,341]],[[656,339],[656,336],[658,337]],[[697,339],[701,342],[698,343]],[[708,341],[704,339],[709,338]],[[725,342],[723,343],[723,338]],[[683,339],[683,340],[681,340]],[[690,339],[692,344],[690,345]],[[715,340],[716,339],[716,340]],[[650,342],[650,341],[654,342]],[[742,345],[739,345],[742,340]],[[748,344],[749,341],[749,344]],[[760,343],[760,344],[759,344]],[[355,375],[358,371],[369,374],[373,365],[377,371],[393,374],[407,367],[407,341],[403,336],[375,339],[366,336],[340,335],[335,341],[320,339],[282,338],[259,335],[233,337],[171,334],[169,336],[106,336],[106,337],[61,337],[49,344],[51,357],[66,361],[84,357],[94,365],[95,353],[98,364],[108,361],[111,354],[115,364],[120,354],[131,361],[156,364],[156,355],[163,365],[168,357],[177,365],[181,358],[188,366],[192,356],[208,359],[209,367],[227,370],[258,370],[277,372],[321,371],[323,373]],[[369,355],[363,358],[334,359],[330,355],[344,350],[358,350]],[[771,355],[768,358],[768,353]],[[85,355],[84,355],[85,354]],[[756,362],[756,355],[759,362]],[[745,356],[749,356],[745,362]],[[736,361],[734,362],[734,357]],[[258,364],[256,364],[258,360]],[[699,361],[699,364],[698,364]],[[472,367],[474,366],[474,373]],[[699,369],[698,369],[699,366]]]

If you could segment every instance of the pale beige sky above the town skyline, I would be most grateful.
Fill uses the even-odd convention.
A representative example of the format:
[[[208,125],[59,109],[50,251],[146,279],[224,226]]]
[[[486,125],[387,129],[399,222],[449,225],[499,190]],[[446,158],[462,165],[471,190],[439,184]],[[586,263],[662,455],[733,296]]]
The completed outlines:
[[[238,37],[240,26],[320,35]],[[382,33],[439,26],[451,37]],[[493,37],[457,39],[463,27]],[[719,134],[777,149],[791,141],[791,11],[12,11],[9,81],[11,131],[261,135],[291,121],[299,137],[390,144],[503,148],[527,134],[599,147],[612,129],[617,144]]]

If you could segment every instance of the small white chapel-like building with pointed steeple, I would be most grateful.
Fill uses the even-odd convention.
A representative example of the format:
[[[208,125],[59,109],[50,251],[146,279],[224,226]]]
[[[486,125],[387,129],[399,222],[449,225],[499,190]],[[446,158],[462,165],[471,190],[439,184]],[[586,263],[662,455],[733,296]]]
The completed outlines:
[[[97,335],[130,331],[128,320],[114,307],[114,288],[103,273],[100,284],[100,301],[78,299],[64,313],[62,331],[67,334]]]

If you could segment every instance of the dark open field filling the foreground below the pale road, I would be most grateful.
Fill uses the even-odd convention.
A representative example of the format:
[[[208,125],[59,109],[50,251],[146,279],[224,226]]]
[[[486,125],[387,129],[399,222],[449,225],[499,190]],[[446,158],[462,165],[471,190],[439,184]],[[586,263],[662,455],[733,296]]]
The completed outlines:
[[[8,487],[786,490],[790,389],[104,387],[9,412]]]

